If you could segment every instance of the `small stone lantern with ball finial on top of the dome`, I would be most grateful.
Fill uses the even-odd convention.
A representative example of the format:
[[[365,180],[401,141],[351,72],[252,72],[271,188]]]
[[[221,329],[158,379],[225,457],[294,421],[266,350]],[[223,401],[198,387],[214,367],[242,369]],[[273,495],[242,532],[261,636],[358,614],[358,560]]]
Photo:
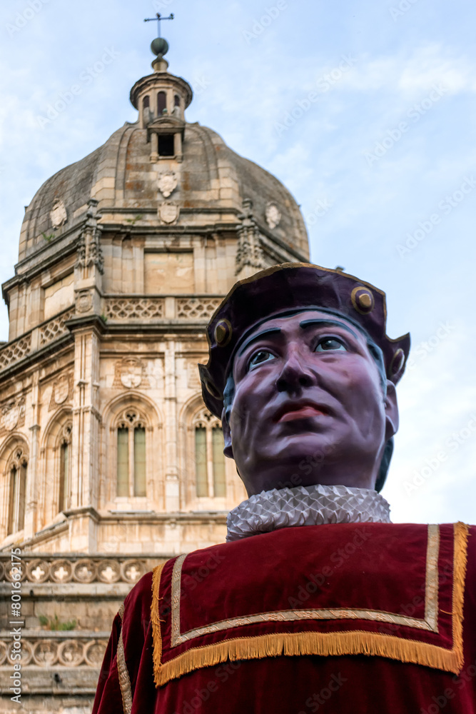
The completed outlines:
[[[183,161],[185,110],[192,101],[191,86],[181,77],[168,73],[168,42],[157,37],[151,44],[156,55],[152,62],[154,74],[136,81],[131,89],[131,103],[138,109],[139,125],[147,129],[151,144],[151,161],[161,159]]]

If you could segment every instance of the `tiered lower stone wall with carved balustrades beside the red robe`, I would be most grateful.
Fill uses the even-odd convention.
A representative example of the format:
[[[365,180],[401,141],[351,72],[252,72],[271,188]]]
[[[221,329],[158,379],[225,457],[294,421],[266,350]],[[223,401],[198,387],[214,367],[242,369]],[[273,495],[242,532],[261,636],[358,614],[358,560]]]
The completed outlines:
[[[0,711],[91,711],[114,615],[141,575],[159,562],[155,556],[116,558],[111,553],[22,556],[23,706],[5,698]],[[0,600],[9,600],[15,582],[10,556],[0,555]],[[0,610],[2,693],[8,692],[19,661],[7,614]]]

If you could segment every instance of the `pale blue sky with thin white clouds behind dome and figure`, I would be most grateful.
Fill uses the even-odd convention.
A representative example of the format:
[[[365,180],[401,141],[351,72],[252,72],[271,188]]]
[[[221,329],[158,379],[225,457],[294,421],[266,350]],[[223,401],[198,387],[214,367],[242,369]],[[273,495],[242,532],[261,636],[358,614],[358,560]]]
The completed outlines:
[[[385,290],[388,335],[411,333],[383,490],[393,520],[475,523],[476,6],[5,0],[1,282],[41,183],[136,121],[128,95],[151,72],[156,12],[175,15],[162,34],[195,92],[187,120],[283,181],[312,261]]]

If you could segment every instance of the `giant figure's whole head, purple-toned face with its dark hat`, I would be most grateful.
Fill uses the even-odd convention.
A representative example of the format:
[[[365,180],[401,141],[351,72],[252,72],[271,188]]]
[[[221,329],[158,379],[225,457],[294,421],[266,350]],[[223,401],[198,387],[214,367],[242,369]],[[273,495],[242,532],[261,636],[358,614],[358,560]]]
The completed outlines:
[[[385,321],[378,288],[303,263],[228,293],[208,325],[201,381],[248,496],[314,483],[380,491],[410,349]]]

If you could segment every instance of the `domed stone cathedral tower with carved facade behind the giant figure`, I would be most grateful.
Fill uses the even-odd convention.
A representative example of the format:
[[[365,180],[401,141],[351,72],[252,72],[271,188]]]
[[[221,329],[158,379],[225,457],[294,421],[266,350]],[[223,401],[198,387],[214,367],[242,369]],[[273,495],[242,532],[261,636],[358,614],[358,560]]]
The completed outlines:
[[[245,491],[201,398],[206,323],[237,275],[308,259],[293,197],[187,124],[191,97],[166,71],[134,85],[138,122],[39,189],[3,286],[0,683],[19,548],[31,713],[86,714],[133,583],[223,541]]]

